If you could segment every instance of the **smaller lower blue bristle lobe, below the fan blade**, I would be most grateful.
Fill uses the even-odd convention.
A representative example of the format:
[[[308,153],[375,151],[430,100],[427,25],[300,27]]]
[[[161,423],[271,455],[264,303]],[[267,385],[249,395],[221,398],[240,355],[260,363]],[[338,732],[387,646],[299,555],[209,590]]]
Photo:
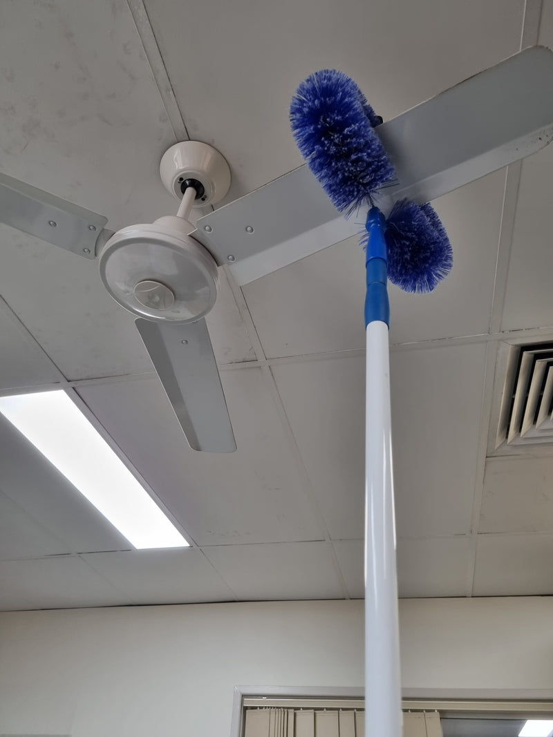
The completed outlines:
[[[386,220],[388,278],[405,292],[431,292],[448,276],[453,250],[437,212],[428,203],[402,200]]]

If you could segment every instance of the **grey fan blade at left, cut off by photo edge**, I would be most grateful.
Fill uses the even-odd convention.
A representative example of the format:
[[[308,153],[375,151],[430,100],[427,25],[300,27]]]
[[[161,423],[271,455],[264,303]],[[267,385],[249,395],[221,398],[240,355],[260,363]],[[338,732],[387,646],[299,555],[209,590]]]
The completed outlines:
[[[0,223],[94,259],[97,241],[111,236],[103,230],[107,222],[107,217],[0,172]]]

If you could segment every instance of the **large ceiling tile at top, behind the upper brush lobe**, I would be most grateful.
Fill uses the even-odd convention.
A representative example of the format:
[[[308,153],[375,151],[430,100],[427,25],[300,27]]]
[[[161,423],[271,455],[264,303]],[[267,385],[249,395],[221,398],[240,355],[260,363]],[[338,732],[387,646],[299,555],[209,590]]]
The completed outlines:
[[[351,74],[387,119],[518,51],[524,10],[522,0],[145,5],[190,135],[229,159],[231,198],[299,165],[288,108],[310,72]],[[186,58],[201,59],[194,73]]]

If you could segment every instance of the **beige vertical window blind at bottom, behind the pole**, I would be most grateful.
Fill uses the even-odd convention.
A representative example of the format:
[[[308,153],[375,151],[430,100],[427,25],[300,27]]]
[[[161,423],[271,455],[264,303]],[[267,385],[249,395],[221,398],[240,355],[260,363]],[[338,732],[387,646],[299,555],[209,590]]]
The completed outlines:
[[[244,737],[365,737],[365,713],[359,709],[252,708],[246,710]],[[442,737],[439,713],[404,713],[403,737]]]

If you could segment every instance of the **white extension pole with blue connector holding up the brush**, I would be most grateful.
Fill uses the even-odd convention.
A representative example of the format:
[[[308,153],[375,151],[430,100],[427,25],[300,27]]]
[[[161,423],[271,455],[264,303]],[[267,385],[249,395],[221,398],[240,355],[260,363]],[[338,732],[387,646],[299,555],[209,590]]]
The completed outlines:
[[[366,220],[365,736],[402,737],[386,222]]]

